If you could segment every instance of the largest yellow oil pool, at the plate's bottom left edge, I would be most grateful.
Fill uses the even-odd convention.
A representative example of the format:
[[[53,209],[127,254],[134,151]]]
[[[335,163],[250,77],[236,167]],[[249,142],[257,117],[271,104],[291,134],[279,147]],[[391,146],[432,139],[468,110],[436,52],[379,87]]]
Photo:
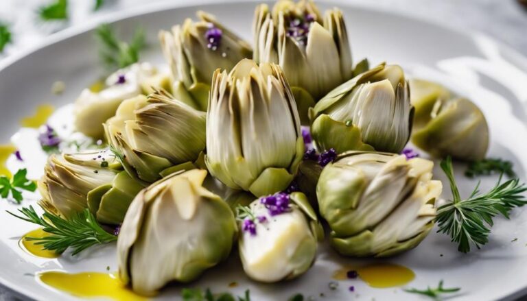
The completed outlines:
[[[86,272],[68,274],[65,272],[43,272],[38,274],[40,281],[60,291],[71,293],[80,298],[109,298],[115,301],[144,301],[130,289],[127,289],[113,274]]]

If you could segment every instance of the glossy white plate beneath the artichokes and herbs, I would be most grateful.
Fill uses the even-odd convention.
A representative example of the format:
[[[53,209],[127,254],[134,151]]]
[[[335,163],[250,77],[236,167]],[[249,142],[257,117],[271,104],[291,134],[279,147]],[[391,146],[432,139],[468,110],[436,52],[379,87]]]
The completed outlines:
[[[162,58],[156,41],[158,30],[181,23],[186,17],[194,16],[198,9],[215,14],[227,26],[250,38],[254,2],[201,5],[197,4],[200,1],[179,2],[115,14],[108,21],[115,21],[122,32],[130,32],[137,24],[142,24],[152,45],[143,58],[159,63]],[[491,128],[489,154],[512,160],[517,173],[522,179],[526,178],[527,60],[480,34],[465,34],[428,21],[379,11],[373,8],[374,4],[346,0],[333,4],[342,8],[346,16],[355,61],[367,56],[373,62],[398,63],[412,75],[443,82],[460,95],[476,101]],[[320,3],[323,9],[328,6]],[[102,74],[91,28],[93,24],[67,29],[51,36],[44,47],[21,53],[0,64],[0,141],[8,142],[17,130],[19,119],[31,115],[36,104],[67,104]],[[60,96],[50,92],[51,84],[56,80],[65,81],[67,86]],[[436,175],[445,179],[438,168]],[[462,176],[462,166],[458,166],[458,178],[462,194],[467,195],[476,180],[466,180]],[[494,181],[492,177],[484,178],[483,190]],[[449,197],[447,187],[443,196]],[[30,202],[24,204],[27,206]],[[36,300],[75,300],[67,293],[39,284],[32,275],[49,269],[68,272],[106,272],[107,266],[112,271],[117,269],[115,245],[93,248],[75,258],[62,256],[45,260],[26,254],[17,241],[35,227],[4,213],[5,209],[16,208],[5,201],[0,202],[0,282],[3,285]],[[447,287],[461,287],[456,300],[499,300],[522,296],[527,293],[527,217],[522,211],[514,210],[511,221],[497,219],[491,241],[482,250],[460,254],[448,237],[432,232],[418,248],[384,261],[405,265],[417,274],[409,287],[434,286],[441,279],[445,280]],[[517,241],[511,242],[515,238]],[[325,293],[321,300],[421,299],[399,288],[373,289],[360,280],[340,282],[339,289],[330,291],[327,284],[331,281],[331,274],[340,265],[356,261],[321,249],[314,267],[298,280],[279,285],[251,282],[242,273],[239,260],[233,256],[228,263],[211,269],[193,285],[210,287],[218,292],[231,290],[239,295],[250,289],[253,300],[286,300],[294,293],[305,296]],[[229,289],[227,285],[233,281],[239,286]],[[356,293],[347,290],[349,285],[355,286]],[[160,298],[173,299],[178,296],[179,289],[167,289]]]

